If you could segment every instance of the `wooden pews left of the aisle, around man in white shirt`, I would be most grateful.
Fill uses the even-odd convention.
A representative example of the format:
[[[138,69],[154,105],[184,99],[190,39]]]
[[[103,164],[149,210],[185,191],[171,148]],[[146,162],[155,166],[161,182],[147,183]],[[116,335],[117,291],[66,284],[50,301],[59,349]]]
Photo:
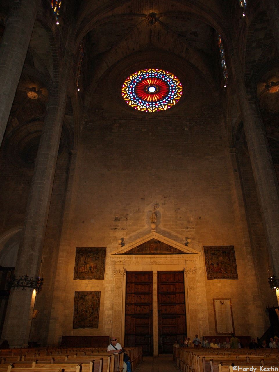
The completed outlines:
[[[125,349],[134,370],[142,362],[142,347]],[[0,372],[122,372],[123,353],[106,348],[30,348],[0,350]]]

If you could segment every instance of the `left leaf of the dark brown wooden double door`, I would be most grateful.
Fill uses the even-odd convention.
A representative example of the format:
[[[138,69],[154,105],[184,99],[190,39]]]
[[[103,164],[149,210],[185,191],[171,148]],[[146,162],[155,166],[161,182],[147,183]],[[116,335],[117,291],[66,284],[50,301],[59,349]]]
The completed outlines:
[[[153,355],[152,272],[126,273],[125,346],[142,346]]]

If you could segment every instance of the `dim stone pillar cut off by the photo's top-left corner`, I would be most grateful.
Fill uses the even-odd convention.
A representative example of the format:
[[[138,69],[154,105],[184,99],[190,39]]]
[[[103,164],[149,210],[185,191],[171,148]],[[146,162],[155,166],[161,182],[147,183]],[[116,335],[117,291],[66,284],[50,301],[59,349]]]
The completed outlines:
[[[40,0],[14,1],[0,45],[0,145],[29,47]]]

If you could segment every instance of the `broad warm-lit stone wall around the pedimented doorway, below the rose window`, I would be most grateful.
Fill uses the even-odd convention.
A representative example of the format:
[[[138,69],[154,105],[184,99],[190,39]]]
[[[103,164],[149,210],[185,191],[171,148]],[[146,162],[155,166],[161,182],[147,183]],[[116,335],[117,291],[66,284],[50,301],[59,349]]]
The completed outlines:
[[[58,257],[49,343],[60,342],[62,334],[112,333],[114,279],[109,253],[120,238],[127,244],[145,234],[154,203],[159,206],[158,228],[179,243],[191,238],[202,253],[196,275],[197,332],[215,334],[213,298],[230,298],[235,332],[263,334],[253,257],[244,244],[239,228],[243,220],[235,203],[235,187],[240,186],[233,181],[219,112],[214,105],[191,116],[175,111],[119,116],[119,111],[116,119],[115,112],[106,112],[84,123],[67,244],[61,241]],[[206,279],[203,246],[208,245],[234,246],[238,280]],[[105,280],[73,280],[76,247],[108,247]],[[99,328],[73,330],[74,291],[101,291]]]

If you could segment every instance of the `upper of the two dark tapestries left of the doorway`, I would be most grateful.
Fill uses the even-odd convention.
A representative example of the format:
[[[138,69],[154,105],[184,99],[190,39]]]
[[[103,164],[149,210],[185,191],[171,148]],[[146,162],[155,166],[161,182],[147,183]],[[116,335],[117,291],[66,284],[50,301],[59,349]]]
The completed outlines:
[[[104,279],[106,248],[76,248],[74,279]]]

